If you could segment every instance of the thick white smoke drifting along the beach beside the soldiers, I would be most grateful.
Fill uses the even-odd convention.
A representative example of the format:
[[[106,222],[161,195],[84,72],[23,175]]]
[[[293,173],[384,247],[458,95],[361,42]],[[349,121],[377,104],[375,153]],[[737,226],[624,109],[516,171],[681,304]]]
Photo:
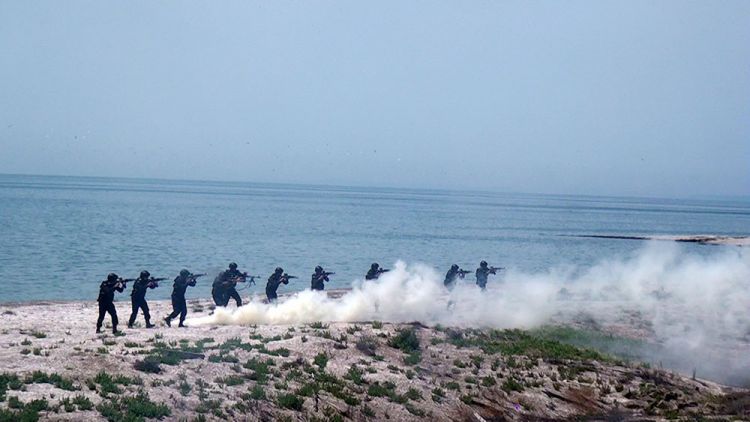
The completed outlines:
[[[377,281],[353,282],[339,299],[313,291],[272,305],[253,298],[237,310],[218,309],[189,323],[380,320],[533,328],[584,314],[597,325],[619,326],[626,335],[645,330],[658,348],[643,351],[644,358],[683,372],[696,369],[699,375],[745,382],[750,380],[750,253],[747,248],[717,248],[702,256],[653,242],[631,257],[590,268],[536,274],[510,269],[490,278],[484,292],[471,276],[448,291],[443,274],[399,261]]]

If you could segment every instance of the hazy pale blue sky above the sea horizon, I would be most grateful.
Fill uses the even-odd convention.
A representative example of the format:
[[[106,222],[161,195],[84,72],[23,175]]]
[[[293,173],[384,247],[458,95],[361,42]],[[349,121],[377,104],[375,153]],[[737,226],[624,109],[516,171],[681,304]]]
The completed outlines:
[[[750,195],[750,1],[0,0],[0,173]]]

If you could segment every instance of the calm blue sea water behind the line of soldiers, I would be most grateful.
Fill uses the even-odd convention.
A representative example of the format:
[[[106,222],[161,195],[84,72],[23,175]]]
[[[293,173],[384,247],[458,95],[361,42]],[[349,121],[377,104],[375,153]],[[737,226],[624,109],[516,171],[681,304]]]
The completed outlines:
[[[0,301],[95,300],[107,273],[156,277],[236,261],[267,277],[276,266],[309,287],[315,265],[330,287],[370,263],[452,263],[544,271],[631,254],[642,241],[581,234],[748,235],[750,202],[499,194],[113,178],[0,175]],[[710,254],[718,248],[684,245]],[[262,292],[264,282],[243,291]],[[149,293],[168,298],[171,282]],[[128,299],[119,295],[119,299]]]

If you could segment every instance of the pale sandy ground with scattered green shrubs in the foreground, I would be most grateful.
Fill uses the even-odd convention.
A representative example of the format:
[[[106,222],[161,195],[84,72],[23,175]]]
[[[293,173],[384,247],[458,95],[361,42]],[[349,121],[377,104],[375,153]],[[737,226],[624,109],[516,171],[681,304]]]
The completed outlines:
[[[105,420],[101,406],[143,391],[168,407],[164,420],[750,417],[744,390],[639,364],[493,353],[480,344],[497,335],[488,330],[377,322],[168,328],[161,320],[171,311],[166,301],[149,303],[156,328],[143,328],[140,316],[139,327],[127,329],[129,303],[117,305],[121,336],[94,332],[95,302],[0,305],[0,373],[26,379],[7,391],[0,409],[10,407],[10,397],[44,398],[43,420]],[[210,303],[193,300],[188,308],[206,315]],[[414,331],[416,360],[389,345],[399,330]],[[472,339],[477,343],[457,345]],[[159,373],[135,369],[164,350],[192,359],[162,363]],[[34,371],[59,374],[72,387],[29,382]],[[129,378],[119,394],[96,381],[102,371]],[[76,396],[96,407],[62,406]]]

